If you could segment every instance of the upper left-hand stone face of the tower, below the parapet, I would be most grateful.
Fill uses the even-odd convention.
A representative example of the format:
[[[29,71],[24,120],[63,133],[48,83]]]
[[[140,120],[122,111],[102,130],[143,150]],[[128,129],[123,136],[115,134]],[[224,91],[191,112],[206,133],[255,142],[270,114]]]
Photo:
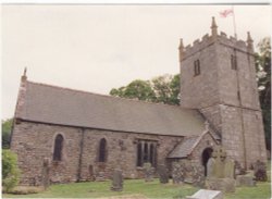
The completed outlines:
[[[215,45],[197,49],[181,62],[182,107],[206,108],[219,101]],[[195,76],[194,62],[200,61],[200,74]]]

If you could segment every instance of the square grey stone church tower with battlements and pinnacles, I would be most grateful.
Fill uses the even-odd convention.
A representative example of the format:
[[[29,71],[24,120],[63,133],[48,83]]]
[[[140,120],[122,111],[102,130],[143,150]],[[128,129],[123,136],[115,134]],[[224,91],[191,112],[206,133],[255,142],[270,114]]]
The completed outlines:
[[[256,83],[254,43],[218,34],[180,43],[181,105],[198,109],[221,136],[228,157],[249,169],[267,161],[262,114]]]

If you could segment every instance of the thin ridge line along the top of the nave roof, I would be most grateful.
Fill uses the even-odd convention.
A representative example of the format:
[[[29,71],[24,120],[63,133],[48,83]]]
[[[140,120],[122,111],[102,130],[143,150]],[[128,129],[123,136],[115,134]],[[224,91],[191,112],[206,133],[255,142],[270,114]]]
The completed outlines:
[[[95,95],[95,96],[100,96],[100,97],[104,97],[104,98],[124,100],[124,101],[139,102],[139,103],[153,104],[153,105],[165,105],[165,107],[171,107],[171,108],[180,107],[183,110],[195,110],[195,109],[183,108],[181,105],[175,105],[175,104],[165,104],[165,103],[162,103],[162,102],[151,102],[151,101],[144,101],[144,100],[138,100],[138,99],[121,98],[121,97],[116,97],[116,96],[110,96],[110,95],[103,95],[103,94],[95,94],[95,92],[91,92],[91,91],[85,91],[85,90],[79,90],[79,89],[62,87],[62,86],[49,85],[49,84],[45,84],[45,83],[35,83],[35,82],[30,82],[30,80],[27,80],[27,83],[35,84],[35,85],[40,85],[40,86],[52,87],[52,88],[59,88],[59,89],[63,89],[63,90],[75,91],[75,92],[82,92],[82,94],[87,94],[87,95]]]

